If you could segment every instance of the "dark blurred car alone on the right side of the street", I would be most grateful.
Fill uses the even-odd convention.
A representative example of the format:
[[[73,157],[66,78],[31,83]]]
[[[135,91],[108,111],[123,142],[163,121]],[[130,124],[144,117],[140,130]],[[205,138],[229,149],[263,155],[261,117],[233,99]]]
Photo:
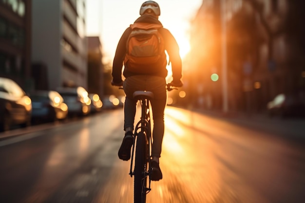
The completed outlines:
[[[269,116],[305,116],[305,94],[295,92],[289,94],[278,94],[274,99],[267,103]]]

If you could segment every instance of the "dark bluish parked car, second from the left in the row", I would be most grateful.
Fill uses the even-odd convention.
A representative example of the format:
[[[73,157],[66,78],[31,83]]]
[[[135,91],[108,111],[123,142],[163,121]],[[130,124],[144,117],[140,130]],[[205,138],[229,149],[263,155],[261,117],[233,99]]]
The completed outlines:
[[[68,106],[56,91],[30,92],[32,121],[57,121],[67,117]]]

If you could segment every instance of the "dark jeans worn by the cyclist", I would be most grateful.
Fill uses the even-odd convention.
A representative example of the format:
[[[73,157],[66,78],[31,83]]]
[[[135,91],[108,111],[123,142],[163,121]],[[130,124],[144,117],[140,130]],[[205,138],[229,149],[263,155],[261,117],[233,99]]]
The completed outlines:
[[[161,146],[164,134],[164,109],[166,105],[165,78],[151,75],[135,75],[126,78],[124,81],[124,91],[126,100],[124,105],[124,130],[133,128],[136,111],[136,100],[133,99],[133,92],[146,90],[153,93],[152,105],[152,156],[160,157]]]

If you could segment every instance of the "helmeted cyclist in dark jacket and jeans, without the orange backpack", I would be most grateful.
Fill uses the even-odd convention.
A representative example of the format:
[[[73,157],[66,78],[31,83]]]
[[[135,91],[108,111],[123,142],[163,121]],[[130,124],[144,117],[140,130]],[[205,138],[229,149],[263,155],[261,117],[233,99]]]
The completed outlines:
[[[158,20],[160,16],[160,7],[155,1],[145,1],[140,8],[140,17],[134,21],[136,23],[146,23],[157,25],[160,28],[158,32],[164,40],[164,50],[167,51],[169,59],[172,63],[172,82],[169,84],[173,87],[182,87],[182,63],[179,55],[179,46],[172,36],[171,32],[163,28],[161,22]],[[164,135],[164,109],[166,106],[167,92],[166,92],[166,76],[168,71],[166,69],[167,61],[165,51],[163,50],[162,55],[165,59],[160,57],[159,60],[165,60],[165,63],[160,61],[159,64],[155,65],[158,67],[150,67],[157,72],[143,73],[131,71],[131,65],[126,62],[127,54],[127,41],[132,32],[132,28],[129,27],[125,30],[121,36],[113,62],[112,71],[112,85],[123,86],[124,92],[126,93],[126,100],[124,105],[124,130],[125,136],[123,138],[121,147],[118,151],[118,156],[121,160],[128,161],[131,157],[131,147],[133,145],[133,125],[134,116],[136,111],[136,100],[133,99],[133,92],[138,90],[151,91],[154,94],[154,98],[151,100],[152,105],[152,116],[153,116],[153,131],[152,131],[152,181],[159,181],[162,179],[162,172],[159,166],[159,157],[161,155],[161,145]],[[125,58],[125,60],[124,60]],[[123,75],[126,78],[122,80],[122,66],[124,62]],[[158,64],[158,63],[156,63]],[[154,66],[154,65],[152,65]],[[143,67],[144,68],[144,67]]]

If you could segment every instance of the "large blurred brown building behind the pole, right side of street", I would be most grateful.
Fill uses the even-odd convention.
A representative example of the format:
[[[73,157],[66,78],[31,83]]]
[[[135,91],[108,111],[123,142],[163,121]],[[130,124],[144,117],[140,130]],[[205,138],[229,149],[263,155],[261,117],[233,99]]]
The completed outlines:
[[[191,33],[192,55],[201,55],[190,61],[200,73],[196,76],[203,83],[202,94],[212,98],[212,109],[220,109],[222,98],[215,92],[222,93],[223,87],[216,87],[208,76],[215,69],[222,81],[221,50],[213,48],[224,34],[229,111],[265,111],[275,95],[305,90],[304,8],[298,0],[203,1]],[[226,32],[219,16],[225,16]]]

